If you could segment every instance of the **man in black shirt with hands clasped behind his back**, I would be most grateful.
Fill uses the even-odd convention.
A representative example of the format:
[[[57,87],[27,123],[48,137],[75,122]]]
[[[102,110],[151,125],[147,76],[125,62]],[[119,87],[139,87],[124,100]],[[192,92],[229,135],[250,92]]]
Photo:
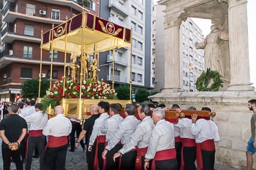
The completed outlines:
[[[23,163],[20,160],[20,142],[26,135],[28,125],[26,120],[17,114],[18,108],[18,105],[11,104],[8,109],[9,116],[1,120],[0,123],[0,136],[2,139],[1,151],[4,161],[4,170],[10,169],[11,158],[15,161],[16,169],[23,170]]]

